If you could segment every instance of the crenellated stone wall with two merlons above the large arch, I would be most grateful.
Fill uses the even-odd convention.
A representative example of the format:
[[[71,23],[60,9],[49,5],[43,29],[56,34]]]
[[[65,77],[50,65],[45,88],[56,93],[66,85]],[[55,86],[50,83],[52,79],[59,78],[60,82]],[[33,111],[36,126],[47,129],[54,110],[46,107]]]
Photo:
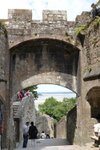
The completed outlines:
[[[32,20],[31,10],[8,10],[8,35],[9,47],[22,41],[49,37],[62,37],[69,39],[75,23],[67,21],[66,11],[43,11],[42,20]],[[22,38],[23,37],[23,38]]]

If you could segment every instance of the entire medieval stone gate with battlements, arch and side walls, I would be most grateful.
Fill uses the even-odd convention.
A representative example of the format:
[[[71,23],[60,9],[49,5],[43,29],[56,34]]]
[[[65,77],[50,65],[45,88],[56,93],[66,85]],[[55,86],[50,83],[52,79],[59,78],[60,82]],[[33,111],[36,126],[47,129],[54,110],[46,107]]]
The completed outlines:
[[[42,83],[61,85],[77,94],[74,142],[90,141],[91,118],[100,113],[100,30],[90,21],[89,13],[69,22],[66,11],[43,11],[41,22],[32,20],[31,10],[9,10],[8,20],[2,20],[6,29],[0,28],[0,95],[6,103],[7,122],[19,89]],[[89,26],[77,39],[75,28],[80,24]],[[7,122],[3,136],[9,129]],[[8,134],[8,147],[11,138]]]

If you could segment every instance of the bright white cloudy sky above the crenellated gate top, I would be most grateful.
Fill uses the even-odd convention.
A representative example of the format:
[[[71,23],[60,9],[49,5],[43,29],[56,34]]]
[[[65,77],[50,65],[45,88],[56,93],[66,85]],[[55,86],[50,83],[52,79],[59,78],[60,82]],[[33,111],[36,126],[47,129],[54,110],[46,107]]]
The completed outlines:
[[[7,19],[8,9],[31,9],[34,20],[42,20],[42,10],[66,10],[67,20],[74,21],[82,11],[90,11],[98,0],[0,0],[0,19]]]

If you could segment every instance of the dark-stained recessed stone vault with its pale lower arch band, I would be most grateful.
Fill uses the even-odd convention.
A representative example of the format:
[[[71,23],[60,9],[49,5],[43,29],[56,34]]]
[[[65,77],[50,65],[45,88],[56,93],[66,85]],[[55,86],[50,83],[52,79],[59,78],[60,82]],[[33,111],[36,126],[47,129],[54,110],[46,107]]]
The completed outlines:
[[[79,49],[64,40],[38,38],[10,49],[13,95],[32,84],[56,84],[79,95]],[[25,68],[25,69],[24,69]]]

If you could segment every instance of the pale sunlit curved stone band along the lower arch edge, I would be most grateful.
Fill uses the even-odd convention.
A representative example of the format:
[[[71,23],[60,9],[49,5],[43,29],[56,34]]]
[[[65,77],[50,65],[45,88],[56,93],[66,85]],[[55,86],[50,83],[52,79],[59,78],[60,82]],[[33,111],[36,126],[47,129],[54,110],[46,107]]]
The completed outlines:
[[[41,80],[41,76],[43,77],[42,80]],[[63,78],[63,76],[65,75],[59,72],[42,73],[22,81],[21,87],[23,89],[38,84],[54,84],[54,85],[62,86],[64,88],[68,88],[71,91],[76,93],[77,89],[75,89],[75,87],[72,86],[71,83],[65,82],[67,80],[67,77],[65,76],[65,78]]]

